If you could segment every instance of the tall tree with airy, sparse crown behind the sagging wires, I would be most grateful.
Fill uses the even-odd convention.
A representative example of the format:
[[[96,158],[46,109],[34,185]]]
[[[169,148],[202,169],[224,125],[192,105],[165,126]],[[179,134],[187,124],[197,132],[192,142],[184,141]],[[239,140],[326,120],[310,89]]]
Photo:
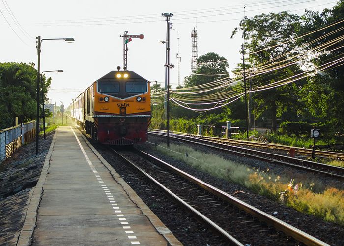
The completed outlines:
[[[243,31],[245,51],[249,53],[248,62],[252,67],[258,67],[263,62],[272,59],[274,62],[280,62],[286,58],[295,61],[297,58],[292,57],[297,55],[297,45],[291,42],[285,43],[285,41],[295,37],[299,27],[300,21],[297,15],[287,12],[261,14],[243,19],[234,29],[231,37],[239,30]],[[253,84],[258,88],[287,79],[299,71],[298,65],[288,66],[255,76]],[[267,115],[272,120],[272,129],[276,131],[277,117],[281,117],[284,112],[297,109],[298,90],[295,83],[290,83],[253,93],[252,98],[257,105],[256,117],[268,113]]]

